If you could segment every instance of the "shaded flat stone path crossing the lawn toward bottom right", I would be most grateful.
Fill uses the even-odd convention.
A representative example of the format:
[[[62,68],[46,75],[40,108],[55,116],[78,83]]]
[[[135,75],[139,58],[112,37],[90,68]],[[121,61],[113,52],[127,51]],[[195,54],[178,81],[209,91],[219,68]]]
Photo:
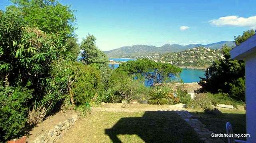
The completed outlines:
[[[190,114],[188,111],[176,111],[176,113],[181,116],[181,118],[183,118],[192,128],[194,128],[195,132],[203,141],[202,143],[225,143],[219,137],[211,137],[211,134],[214,132],[205,128],[205,124],[198,119],[193,119],[192,114]]]

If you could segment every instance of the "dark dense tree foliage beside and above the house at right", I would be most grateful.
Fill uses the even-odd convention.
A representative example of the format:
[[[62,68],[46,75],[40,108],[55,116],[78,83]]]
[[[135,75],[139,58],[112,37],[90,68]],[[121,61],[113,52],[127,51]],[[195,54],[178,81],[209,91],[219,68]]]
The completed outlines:
[[[236,45],[255,34],[254,31],[245,31],[242,36],[235,37]],[[245,71],[244,61],[230,59],[231,50],[223,46],[224,59],[216,60],[205,71],[206,78],[201,78],[201,91],[211,93],[228,93],[228,97],[237,101],[245,101]]]

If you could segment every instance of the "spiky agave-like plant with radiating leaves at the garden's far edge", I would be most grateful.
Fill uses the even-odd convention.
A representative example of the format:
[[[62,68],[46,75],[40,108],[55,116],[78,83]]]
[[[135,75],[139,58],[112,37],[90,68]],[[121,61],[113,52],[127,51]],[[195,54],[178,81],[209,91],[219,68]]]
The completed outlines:
[[[167,100],[167,92],[165,92],[162,89],[152,89],[149,92],[149,95],[152,97],[151,99],[148,100],[150,104],[154,105],[163,105],[163,104],[168,104]]]

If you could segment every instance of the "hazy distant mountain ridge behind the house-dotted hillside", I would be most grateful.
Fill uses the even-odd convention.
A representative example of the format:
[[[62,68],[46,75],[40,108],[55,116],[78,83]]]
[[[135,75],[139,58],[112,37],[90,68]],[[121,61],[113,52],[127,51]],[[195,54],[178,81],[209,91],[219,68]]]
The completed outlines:
[[[164,44],[161,47],[157,46],[148,46],[148,45],[133,45],[133,46],[124,46],[110,51],[104,51],[108,57],[118,57],[118,58],[133,58],[145,53],[170,53],[170,52],[180,52],[188,50],[194,47],[203,46],[210,49],[221,49],[221,47],[226,44],[230,47],[235,46],[233,41],[221,41],[216,43],[211,43],[207,45],[203,44],[189,44],[189,45],[179,45],[179,44]]]

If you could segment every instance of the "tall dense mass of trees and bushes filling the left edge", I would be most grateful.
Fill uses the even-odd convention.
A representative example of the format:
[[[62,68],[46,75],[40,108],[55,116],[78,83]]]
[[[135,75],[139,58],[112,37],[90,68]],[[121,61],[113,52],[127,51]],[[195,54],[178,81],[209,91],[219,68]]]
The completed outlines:
[[[52,63],[75,61],[79,51],[69,7],[55,0],[14,2],[0,12],[0,142],[37,123],[28,120],[34,111],[47,115],[58,109],[64,96],[51,76]],[[32,108],[35,103],[39,108]]]

